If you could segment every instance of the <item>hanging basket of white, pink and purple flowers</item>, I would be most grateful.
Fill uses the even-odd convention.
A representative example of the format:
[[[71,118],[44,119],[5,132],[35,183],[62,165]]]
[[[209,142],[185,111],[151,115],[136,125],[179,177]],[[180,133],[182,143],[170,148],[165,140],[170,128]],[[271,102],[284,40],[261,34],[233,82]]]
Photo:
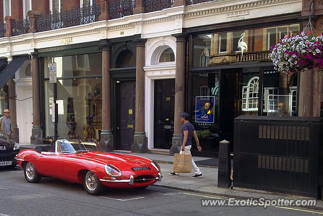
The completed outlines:
[[[284,73],[297,73],[312,68],[323,68],[323,35],[301,32],[285,36],[271,49],[270,58],[275,69]]]

